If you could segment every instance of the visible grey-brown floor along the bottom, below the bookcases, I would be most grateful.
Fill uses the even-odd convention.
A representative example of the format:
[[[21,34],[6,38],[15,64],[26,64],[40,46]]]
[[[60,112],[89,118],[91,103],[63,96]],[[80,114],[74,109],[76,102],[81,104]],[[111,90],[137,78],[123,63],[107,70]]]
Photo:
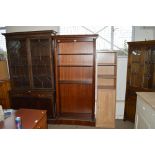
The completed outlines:
[[[89,127],[89,126],[80,126],[80,125],[56,125],[56,124],[49,124],[49,129],[101,129],[96,127]],[[133,129],[134,123],[129,121],[123,120],[116,120],[116,128],[115,129]]]

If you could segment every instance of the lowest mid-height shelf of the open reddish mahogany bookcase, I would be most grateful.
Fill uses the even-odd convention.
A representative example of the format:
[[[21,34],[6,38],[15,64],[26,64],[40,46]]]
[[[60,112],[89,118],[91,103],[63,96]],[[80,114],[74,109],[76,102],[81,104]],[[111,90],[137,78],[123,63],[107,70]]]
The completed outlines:
[[[92,84],[91,80],[59,80],[62,84]]]

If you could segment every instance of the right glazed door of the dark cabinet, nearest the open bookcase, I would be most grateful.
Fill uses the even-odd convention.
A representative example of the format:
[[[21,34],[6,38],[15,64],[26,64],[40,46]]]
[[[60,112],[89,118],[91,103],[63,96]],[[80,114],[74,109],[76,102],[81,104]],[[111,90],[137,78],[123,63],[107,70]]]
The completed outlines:
[[[30,39],[33,88],[52,88],[52,52],[49,38]]]

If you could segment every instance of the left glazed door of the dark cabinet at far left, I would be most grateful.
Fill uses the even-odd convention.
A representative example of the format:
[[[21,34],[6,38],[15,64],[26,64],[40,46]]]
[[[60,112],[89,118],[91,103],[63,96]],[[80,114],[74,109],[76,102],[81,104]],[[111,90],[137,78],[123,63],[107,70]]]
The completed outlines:
[[[29,88],[26,39],[8,40],[7,50],[12,86],[15,88]]]

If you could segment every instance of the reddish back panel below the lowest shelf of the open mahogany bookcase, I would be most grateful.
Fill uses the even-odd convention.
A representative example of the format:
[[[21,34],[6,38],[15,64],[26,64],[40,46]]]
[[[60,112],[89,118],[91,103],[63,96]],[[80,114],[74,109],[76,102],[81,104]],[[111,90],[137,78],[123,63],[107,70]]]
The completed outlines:
[[[60,84],[61,113],[92,113],[91,85]]]

